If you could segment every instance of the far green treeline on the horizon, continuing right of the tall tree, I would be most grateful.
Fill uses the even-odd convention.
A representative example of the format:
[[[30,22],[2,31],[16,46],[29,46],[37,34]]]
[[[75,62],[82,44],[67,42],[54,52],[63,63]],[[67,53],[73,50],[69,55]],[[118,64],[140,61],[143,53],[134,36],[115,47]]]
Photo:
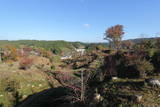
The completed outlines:
[[[137,44],[142,41],[150,40],[152,43],[155,42],[156,38],[138,38],[138,39],[131,39],[129,41],[132,41],[133,43]],[[122,41],[125,42],[126,40]],[[50,50],[55,54],[60,54],[63,52],[69,52],[71,50],[74,50],[75,48],[86,48],[91,49],[95,46],[102,46],[102,47],[108,47],[109,43],[83,43],[83,42],[67,42],[63,40],[58,41],[47,41],[47,40],[15,40],[15,41],[9,41],[9,40],[0,40],[0,47],[4,47],[6,45],[12,45],[15,47],[20,47],[22,45],[25,46],[33,46],[33,47],[40,47],[44,48],[46,50]]]

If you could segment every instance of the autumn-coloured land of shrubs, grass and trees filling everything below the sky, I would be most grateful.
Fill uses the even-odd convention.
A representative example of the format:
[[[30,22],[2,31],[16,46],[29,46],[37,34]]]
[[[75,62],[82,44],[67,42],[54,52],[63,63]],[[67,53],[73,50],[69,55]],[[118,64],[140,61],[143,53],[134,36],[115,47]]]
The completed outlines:
[[[115,25],[107,43],[0,41],[1,106],[160,106],[160,38],[124,34]]]

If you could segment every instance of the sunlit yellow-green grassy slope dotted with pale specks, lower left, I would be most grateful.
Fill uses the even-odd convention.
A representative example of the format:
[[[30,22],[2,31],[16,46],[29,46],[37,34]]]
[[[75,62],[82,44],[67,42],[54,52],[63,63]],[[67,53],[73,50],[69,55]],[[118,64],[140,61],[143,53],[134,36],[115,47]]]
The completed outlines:
[[[6,83],[7,80],[15,81],[19,84],[17,87],[18,92],[23,98],[49,88],[44,74],[37,69],[19,70],[17,63],[13,63],[12,66],[3,63],[0,64],[0,68],[0,103],[9,103],[6,98],[7,92],[5,92],[8,84]]]

